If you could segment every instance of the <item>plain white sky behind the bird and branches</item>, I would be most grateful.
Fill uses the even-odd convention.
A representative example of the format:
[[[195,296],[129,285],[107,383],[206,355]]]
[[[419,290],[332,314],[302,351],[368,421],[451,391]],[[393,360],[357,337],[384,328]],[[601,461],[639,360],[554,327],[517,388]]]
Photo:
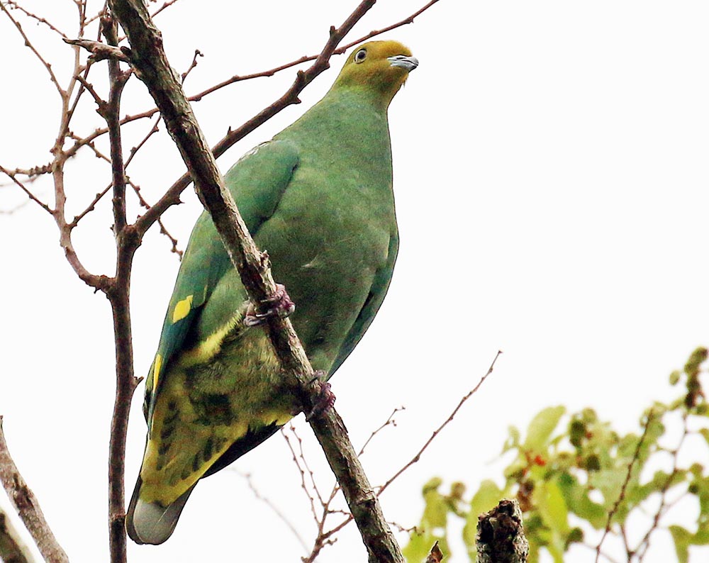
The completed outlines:
[[[423,4],[382,0],[351,37]],[[74,33],[72,2],[24,5]],[[193,94],[233,74],[319,52],[329,26],[355,5],[181,0],[156,23],[179,72],[195,48],[205,55],[186,83]],[[698,1],[441,0],[385,36],[420,60],[390,111],[401,251],[379,316],[333,379],[337,410],[356,446],[393,408],[406,406],[397,427],[381,433],[363,458],[374,484],[411,458],[504,351],[479,394],[381,498],[389,520],[418,523],[420,487],[431,476],[470,486],[499,479],[489,462],[508,425],[524,428],[545,406],[592,406],[620,430],[636,430],[643,408],[677,394],[669,372],[709,344],[708,18],[709,5]],[[46,35],[33,23],[24,27],[33,37]],[[38,46],[66,84],[72,52],[54,39],[38,39]],[[0,164],[43,164],[58,128],[58,96],[4,16],[0,48]],[[303,104],[222,157],[221,169],[320,99],[343,61],[333,59],[333,69],[303,92]],[[94,69],[94,77],[103,72]],[[294,72],[242,82],[194,104],[208,140],[216,143],[277,99]],[[131,79],[124,111],[149,107],[145,88]],[[89,96],[84,115],[79,134],[99,124]],[[145,120],[125,128],[126,149],[149,128]],[[184,170],[162,123],[161,130],[128,170],[149,201]],[[107,169],[94,174],[103,166],[88,151],[69,166],[70,213],[106,186]],[[49,184],[38,182],[36,192],[48,199]],[[0,189],[1,208],[23,199],[13,187]],[[182,248],[199,214],[191,188],[183,199],[186,205],[164,216]],[[109,204],[107,197],[75,233],[80,257],[96,273],[113,272]],[[129,211],[131,218],[139,212],[135,202]],[[6,437],[72,561],[106,561],[110,309],[69,268],[54,223],[36,206],[0,216],[0,241]],[[138,375],[155,353],[177,272],[168,250],[153,229],[135,259]],[[140,386],[130,420],[128,495],[143,450],[142,394]],[[311,430],[302,417],[296,424],[329,491]],[[233,467],[252,474],[259,493],[309,545],[315,528],[283,438]],[[0,503],[7,506],[4,496]],[[353,525],[339,537],[319,561],[365,559]],[[467,560],[462,544],[453,547],[453,562]],[[697,550],[696,560],[707,553]],[[295,562],[302,554],[286,525],[230,470],[196,488],[166,544],[129,547],[131,562]],[[650,554],[647,562],[674,557],[664,533]],[[593,557],[576,550],[571,559]]]

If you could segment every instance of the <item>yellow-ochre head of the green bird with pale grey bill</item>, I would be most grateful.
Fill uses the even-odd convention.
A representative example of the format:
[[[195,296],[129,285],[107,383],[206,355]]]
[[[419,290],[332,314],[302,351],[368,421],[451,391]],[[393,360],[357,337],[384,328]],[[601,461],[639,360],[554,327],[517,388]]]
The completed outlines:
[[[373,91],[389,106],[408,73],[416,67],[416,57],[398,41],[370,41],[350,53],[333,87]]]

